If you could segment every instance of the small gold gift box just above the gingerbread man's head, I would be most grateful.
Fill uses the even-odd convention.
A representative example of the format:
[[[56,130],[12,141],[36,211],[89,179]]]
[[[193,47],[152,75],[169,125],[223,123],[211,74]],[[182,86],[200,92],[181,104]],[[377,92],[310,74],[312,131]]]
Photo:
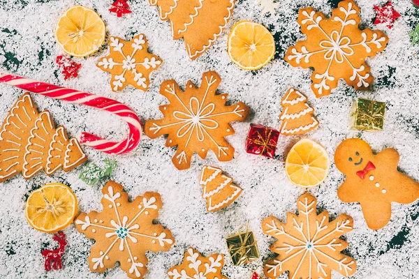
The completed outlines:
[[[353,129],[383,130],[385,103],[359,98],[352,109]]]

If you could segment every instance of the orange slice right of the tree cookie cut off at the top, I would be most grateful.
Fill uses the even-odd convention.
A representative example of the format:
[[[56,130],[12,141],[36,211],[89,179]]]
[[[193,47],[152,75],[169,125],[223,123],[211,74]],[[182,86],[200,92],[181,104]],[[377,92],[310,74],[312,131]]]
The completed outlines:
[[[274,36],[261,24],[237,22],[228,36],[227,52],[243,70],[258,70],[275,54]]]

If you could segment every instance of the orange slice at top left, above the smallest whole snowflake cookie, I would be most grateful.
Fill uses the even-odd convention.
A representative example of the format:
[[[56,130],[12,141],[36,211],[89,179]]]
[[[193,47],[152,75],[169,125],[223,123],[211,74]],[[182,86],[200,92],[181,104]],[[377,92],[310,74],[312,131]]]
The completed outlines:
[[[105,41],[105,23],[91,8],[73,6],[66,10],[55,27],[59,46],[72,56],[87,56],[96,52]]]

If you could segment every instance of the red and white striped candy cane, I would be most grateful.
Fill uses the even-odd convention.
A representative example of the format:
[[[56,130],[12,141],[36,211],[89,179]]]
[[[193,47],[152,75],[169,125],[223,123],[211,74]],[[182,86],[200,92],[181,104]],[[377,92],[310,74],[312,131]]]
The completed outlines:
[[[0,83],[1,82],[50,98],[88,105],[89,107],[97,107],[98,109],[112,112],[112,114],[121,117],[128,123],[129,135],[128,138],[122,142],[103,140],[101,137],[83,132],[79,137],[79,141],[82,144],[91,146],[92,148],[105,153],[124,154],[133,150],[135,146],[138,145],[138,142],[140,142],[142,130],[140,119],[138,119],[138,116],[133,110],[116,100],[6,73],[0,73]]]

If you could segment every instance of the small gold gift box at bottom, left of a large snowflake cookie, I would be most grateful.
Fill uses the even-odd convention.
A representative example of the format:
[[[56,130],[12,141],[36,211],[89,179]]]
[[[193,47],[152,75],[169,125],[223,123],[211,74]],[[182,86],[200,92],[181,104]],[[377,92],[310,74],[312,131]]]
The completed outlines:
[[[226,243],[231,261],[235,266],[241,266],[259,258],[258,243],[253,232],[249,232],[249,223],[247,226],[242,225],[238,234],[228,237]]]

